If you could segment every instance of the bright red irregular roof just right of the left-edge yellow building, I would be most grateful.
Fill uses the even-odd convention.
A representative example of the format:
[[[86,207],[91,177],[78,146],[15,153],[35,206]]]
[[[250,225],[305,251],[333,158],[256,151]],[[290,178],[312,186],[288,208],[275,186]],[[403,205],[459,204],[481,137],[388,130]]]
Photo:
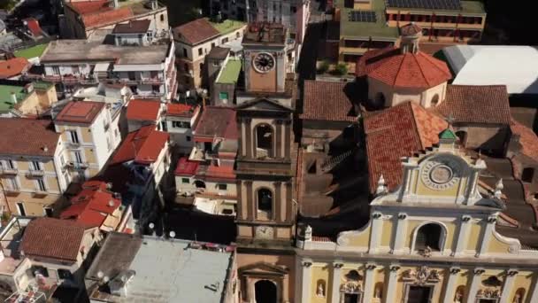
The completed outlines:
[[[113,214],[118,209],[121,205],[119,199],[113,198],[111,192],[102,190],[106,189],[106,183],[91,183],[91,186],[82,184],[86,189],[71,199],[72,205],[60,214],[61,219],[73,219],[88,228],[98,228],[108,214]]]

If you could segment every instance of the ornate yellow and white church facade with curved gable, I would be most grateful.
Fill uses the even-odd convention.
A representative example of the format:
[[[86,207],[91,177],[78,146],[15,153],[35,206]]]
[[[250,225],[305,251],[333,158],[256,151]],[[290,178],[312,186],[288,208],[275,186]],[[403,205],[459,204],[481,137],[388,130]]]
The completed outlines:
[[[362,229],[334,241],[299,231],[296,302],[538,302],[538,252],[496,231],[503,183],[486,194],[485,161],[456,141],[445,129],[402,159],[396,187],[381,175]]]

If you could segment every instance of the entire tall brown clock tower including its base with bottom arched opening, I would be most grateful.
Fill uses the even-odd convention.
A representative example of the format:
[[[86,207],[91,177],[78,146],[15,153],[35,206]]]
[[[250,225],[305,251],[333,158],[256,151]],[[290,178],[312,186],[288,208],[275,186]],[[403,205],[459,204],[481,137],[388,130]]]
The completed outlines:
[[[250,24],[244,35],[244,90],[236,92],[239,146],[237,265],[242,302],[295,302],[295,75],[287,75],[288,31]]]

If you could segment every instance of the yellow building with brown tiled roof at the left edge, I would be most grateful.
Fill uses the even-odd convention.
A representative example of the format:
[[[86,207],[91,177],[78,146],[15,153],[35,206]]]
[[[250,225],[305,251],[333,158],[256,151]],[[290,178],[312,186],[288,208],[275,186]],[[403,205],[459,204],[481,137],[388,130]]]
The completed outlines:
[[[64,203],[60,136],[50,120],[0,118],[3,212],[52,215]]]

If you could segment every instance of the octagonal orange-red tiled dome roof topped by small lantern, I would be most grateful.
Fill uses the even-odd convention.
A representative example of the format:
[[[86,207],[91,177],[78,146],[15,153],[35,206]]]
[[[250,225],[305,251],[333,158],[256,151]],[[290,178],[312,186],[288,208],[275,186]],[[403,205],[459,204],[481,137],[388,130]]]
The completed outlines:
[[[432,88],[452,78],[446,63],[426,53],[402,53],[388,47],[367,51],[358,59],[357,77],[367,75],[399,88]]]

